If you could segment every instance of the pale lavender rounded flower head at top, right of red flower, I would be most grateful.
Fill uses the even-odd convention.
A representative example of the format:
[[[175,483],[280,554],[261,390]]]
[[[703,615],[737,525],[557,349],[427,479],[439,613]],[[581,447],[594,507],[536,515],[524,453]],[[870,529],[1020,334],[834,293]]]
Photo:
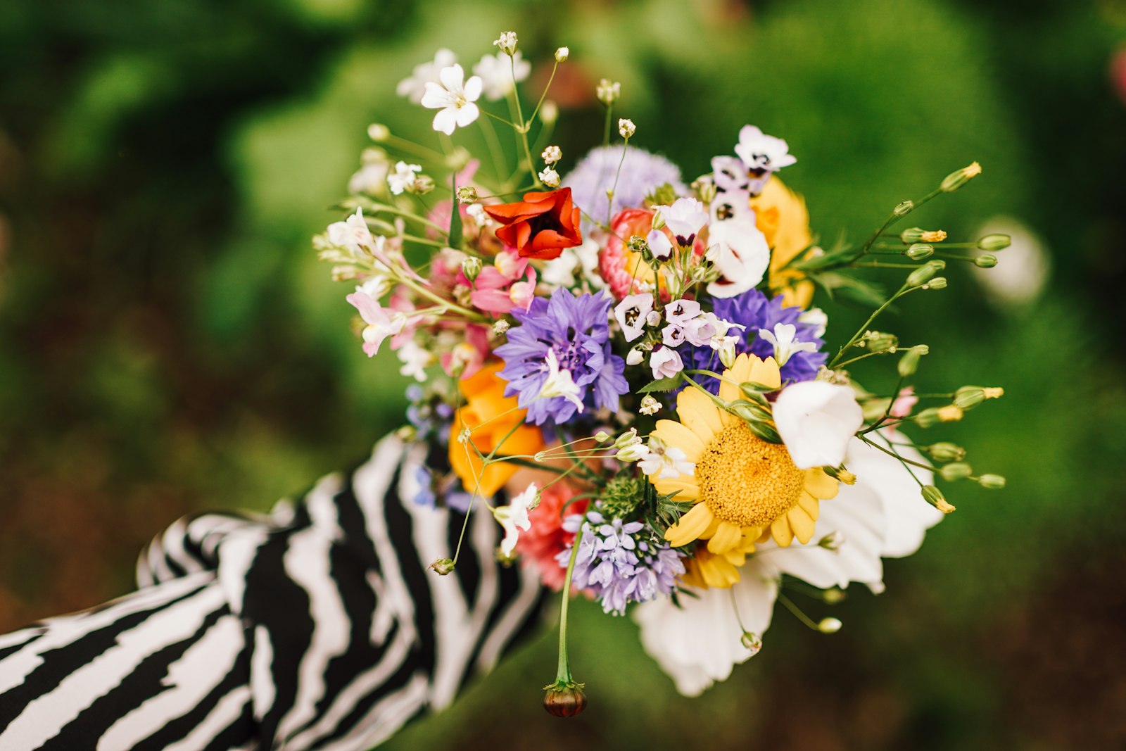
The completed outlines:
[[[624,163],[622,163],[623,149],[626,149]],[[680,181],[680,168],[664,157],[634,146],[599,146],[591,150],[578,167],[563,178],[563,186],[571,188],[574,205],[599,222],[606,220],[608,200],[606,191],[614,188],[614,176],[618,175],[619,163],[622,173],[614,189],[610,216],[623,208],[641,208],[646,194],[665,182],[672,185],[678,195],[686,191]],[[590,232],[592,229],[591,221],[583,216],[582,231]]]

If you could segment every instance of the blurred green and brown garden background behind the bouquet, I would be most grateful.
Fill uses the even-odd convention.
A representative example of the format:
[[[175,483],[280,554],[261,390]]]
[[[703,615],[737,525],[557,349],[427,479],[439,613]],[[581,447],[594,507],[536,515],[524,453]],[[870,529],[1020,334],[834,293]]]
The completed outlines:
[[[387,748],[1126,746],[1123,0],[0,5],[0,631],[126,591],[178,516],[268,508],[403,421],[403,379],[360,352],[309,239],[367,124],[432,140],[399,79],[506,29],[536,93],[571,47],[569,160],[600,137],[601,77],[689,177],[754,123],[789,141],[826,243],[981,161],[911,223],[1020,234],[993,271],[1021,299],[957,268],[885,327],[931,345],[924,390],[1006,387],[933,433],[1009,488],[949,485],[958,511],[888,562],[885,594],[803,600],[834,636],[779,608],[700,699],[580,604],[581,717],[538,706],[545,631]],[[1034,248],[1038,292],[1011,274]],[[826,307],[839,342],[858,314]]]

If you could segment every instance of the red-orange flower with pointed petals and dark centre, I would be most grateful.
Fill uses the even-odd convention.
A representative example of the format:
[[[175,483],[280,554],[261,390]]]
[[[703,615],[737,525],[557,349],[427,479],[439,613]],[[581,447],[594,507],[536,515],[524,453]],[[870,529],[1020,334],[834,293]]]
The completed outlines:
[[[558,258],[564,248],[582,244],[581,212],[571,200],[571,188],[526,193],[524,200],[484,209],[504,225],[497,236],[521,258]]]

